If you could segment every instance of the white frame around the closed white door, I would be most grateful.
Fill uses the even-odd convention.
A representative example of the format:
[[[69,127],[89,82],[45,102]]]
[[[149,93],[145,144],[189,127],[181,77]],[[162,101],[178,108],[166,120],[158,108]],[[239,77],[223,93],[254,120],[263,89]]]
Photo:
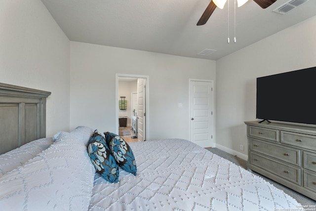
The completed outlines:
[[[211,82],[213,84],[213,94],[212,94],[212,107],[213,107],[213,115],[212,115],[212,131],[213,131],[213,138],[211,146],[215,147],[215,88],[214,88],[214,81],[213,80],[204,80],[204,79],[189,79],[189,114],[188,114],[188,120],[189,120],[189,140],[191,140],[191,83],[192,82]]]

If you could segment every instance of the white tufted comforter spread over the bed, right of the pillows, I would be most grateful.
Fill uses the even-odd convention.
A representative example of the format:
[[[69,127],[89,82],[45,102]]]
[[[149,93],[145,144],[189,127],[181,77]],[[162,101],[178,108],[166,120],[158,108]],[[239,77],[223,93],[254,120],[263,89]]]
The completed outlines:
[[[299,204],[262,178],[183,139],[129,143],[137,175],[96,175],[91,211],[275,211]]]

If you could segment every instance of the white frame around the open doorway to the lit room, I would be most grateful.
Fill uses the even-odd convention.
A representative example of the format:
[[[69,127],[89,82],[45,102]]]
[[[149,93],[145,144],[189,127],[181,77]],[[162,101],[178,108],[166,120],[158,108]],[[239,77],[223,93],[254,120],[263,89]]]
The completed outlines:
[[[145,107],[146,107],[146,122],[145,122],[145,137],[144,140],[147,140],[149,131],[148,131],[148,122],[149,122],[149,76],[143,75],[130,75],[130,74],[115,74],[115,133],[118,134],[118,79],[119,78],[135,78],[135,79],[146,79],[146,94],[145,94]]]

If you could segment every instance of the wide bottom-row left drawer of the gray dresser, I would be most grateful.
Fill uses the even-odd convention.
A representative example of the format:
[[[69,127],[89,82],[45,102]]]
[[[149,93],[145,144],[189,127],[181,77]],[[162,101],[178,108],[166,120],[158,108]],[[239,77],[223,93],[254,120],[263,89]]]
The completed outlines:
[[[301,169],[281,164],[276,160],[268,159],[250,152],[250,164],[282,177],[288,181],[301,185]]]

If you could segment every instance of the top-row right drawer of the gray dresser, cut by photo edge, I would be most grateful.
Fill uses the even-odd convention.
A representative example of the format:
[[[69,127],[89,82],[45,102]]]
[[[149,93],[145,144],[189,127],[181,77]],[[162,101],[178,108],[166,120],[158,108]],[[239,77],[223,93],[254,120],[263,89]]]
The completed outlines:
[[[316,137],[312,135],[280,131],[281,143],[316,150]]]

